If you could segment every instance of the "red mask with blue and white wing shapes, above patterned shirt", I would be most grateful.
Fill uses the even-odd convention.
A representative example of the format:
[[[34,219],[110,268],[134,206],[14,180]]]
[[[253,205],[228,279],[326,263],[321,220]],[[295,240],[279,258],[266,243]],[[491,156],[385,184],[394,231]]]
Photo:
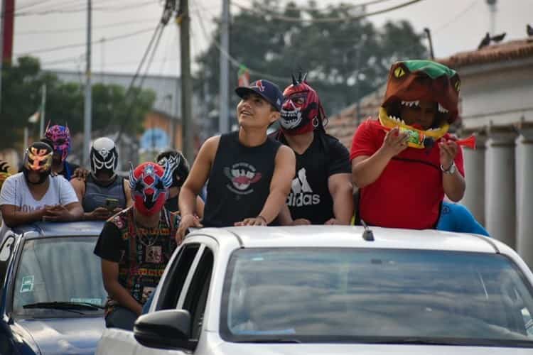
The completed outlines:
[[[131,198],[137,211],[151,215],[161,211],[166,201],[168,187],[172,185],[172,172],[167,166],[156,163],[142,163],[129,170]]]

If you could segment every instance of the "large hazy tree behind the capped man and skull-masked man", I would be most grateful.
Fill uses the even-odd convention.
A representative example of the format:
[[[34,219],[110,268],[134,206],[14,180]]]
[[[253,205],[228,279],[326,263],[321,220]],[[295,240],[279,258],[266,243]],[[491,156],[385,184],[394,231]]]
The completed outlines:
[[[231,19],[230,53],[243,65],[273,77],[281,89],[291,82],[291,73],[308,72],[308,82],[318,90],[330,114],[356,102],[387,80],[392,62],[400,59],[426,58],[426,48],[408,21],[387,22],[377,28],[366,18],[353,20],[364,9],[338,4],[318,9],[316,2],[305,6],[294,3],[281,8],[281,1],[254,1],[255,11],[241,11]],[[275,13],[300,19],[341,18],[339,21],[281,21]],[[281,10],[280,10],[281,9]],[[220,43],[220,24],[213,41]],[[220,52],[214,42],[197,58],[198,77],[207,80],[204,96],[216,97],[219,89]],[[237,70],[230,72],[230,92],[237,85]],[[251,80],[261,75],[252,75]],[[263,78],[268,79],[264,76]],[[232,104],[237,97],[231,95]],[[214,103],[216,107],[216,103]]]

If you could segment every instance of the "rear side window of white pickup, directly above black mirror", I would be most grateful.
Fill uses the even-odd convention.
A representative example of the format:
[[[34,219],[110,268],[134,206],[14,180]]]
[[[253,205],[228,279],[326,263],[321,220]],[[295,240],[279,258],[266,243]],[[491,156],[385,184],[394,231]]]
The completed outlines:
[[[172,310],[176,308],[189,273],[193,265],[200,244],[185,244],[178,251],[178,255],[168,270],[165,280],[161,283],[161,292],[157,300],[156,310]]]

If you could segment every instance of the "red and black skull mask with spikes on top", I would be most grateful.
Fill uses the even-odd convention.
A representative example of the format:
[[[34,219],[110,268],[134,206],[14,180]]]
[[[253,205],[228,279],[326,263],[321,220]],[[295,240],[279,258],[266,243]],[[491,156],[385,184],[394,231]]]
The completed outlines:
[[[313,131],[322,126],[324,109],[315,89],[306,82],[306,75],[298,80],[292,76],[292,84],[283,92],[285,97],[279,124],[284,133],[296,135]]]

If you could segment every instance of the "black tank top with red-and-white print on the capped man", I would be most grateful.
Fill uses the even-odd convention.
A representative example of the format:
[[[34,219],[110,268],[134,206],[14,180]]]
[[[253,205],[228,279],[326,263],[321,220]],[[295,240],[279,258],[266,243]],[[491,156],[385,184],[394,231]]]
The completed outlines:
[[[257,217],[270,193],[279,146],[271,138],[261,146],[243,146],[238,131],[220,136],[209,175],[204,226],[233,226]]]

